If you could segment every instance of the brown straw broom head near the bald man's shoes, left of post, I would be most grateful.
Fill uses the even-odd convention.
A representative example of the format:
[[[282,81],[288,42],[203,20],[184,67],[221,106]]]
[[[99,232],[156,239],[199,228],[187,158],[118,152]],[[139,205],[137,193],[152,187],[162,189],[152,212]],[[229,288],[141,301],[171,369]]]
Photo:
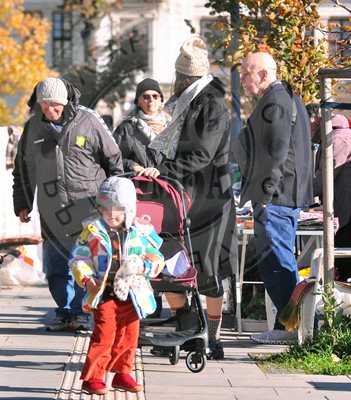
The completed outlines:
[[[298,328],[301,320],[302,299],[315,283],[316,279],[313,278],[307,278],[298,283],[291,294],[288,304],[281,311],[279,322],[285,326],[288,332],[295,331]]]

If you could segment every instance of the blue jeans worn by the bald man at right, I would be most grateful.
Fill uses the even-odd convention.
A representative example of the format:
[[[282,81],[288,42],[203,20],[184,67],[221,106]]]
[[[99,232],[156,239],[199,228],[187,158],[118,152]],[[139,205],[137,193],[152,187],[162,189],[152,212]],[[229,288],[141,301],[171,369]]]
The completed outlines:
[[[274,329],[284,329],[279,315],[299,279],[294,246],[300,208],[254,204],[253,211],[258,271],[277,309]]]

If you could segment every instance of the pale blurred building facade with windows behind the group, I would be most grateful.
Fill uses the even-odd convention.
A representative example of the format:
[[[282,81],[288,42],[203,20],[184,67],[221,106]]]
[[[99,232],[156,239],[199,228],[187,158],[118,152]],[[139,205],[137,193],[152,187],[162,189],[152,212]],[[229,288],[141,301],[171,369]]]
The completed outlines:
[[[135,84],[144,77],[158,80],[168,97],[174,79],[174,62],[182,42],[191,34],[190,27],[197,33],[204,33],[213,19],[204,6],[205,0],[124,0],[121,9],[94,20],[92,25],[77,12],[63,11],[62,3],[62,0],[24,2],[26,11],[38,13],[52,23],[46,48],[51,68],[64,73],[67,68],[83,65],[103,76],[112,66],[113,75],[106,77],[107,84],[100,82],[103,87],[89,94],[90,102],[86,105],[97,108],[102,114],[113,112],[114,120],[128,109],[134,99]],[[325,25],[329,22],[351,25],[350,13],[332,2],[321,3],[319,13]],[[315,34],[318,36],[318,32]],[[335,30],[336,39],[343,34],[340,29]],[[337,40],[331,39],[331,45],[337,46]],[[226,76],[229,82],[228,70],[214,67],[214,73]],[[91,82],[98,78],[85,72],[79,80]],[[126,81],[130,81],[127,89]],[[104,97],[108,100],[97,101]]]

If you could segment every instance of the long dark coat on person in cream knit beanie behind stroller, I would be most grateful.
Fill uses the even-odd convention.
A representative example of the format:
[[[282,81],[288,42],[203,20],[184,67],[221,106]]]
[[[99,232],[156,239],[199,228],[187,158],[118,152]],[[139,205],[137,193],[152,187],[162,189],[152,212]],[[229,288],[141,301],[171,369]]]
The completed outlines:
[[[157,167],[162,175],[181,182],[191,198],[195,266],[207,276],[228,276],[237,268],[230,122],[223,98],[223,87],[214,79],[190,104],[175,159]]]

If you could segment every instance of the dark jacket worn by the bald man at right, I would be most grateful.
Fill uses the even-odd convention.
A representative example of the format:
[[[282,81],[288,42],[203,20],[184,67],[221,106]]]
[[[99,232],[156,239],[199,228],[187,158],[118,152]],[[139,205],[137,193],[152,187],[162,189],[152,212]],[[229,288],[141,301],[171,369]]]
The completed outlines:
[[[243,175],[241,205],[303,207],[312,203],[310,121],[301,99],[281,82],[271,84],[233,145]]]

